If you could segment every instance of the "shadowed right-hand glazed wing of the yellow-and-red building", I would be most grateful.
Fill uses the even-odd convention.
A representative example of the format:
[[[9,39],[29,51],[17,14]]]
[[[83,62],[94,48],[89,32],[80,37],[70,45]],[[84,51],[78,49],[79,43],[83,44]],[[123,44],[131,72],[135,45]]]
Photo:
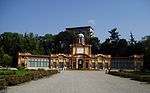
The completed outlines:
[[[112,57],[112,69],[130,69],[141,70],[143,69],[143,55],[132,55],[130,57]]]

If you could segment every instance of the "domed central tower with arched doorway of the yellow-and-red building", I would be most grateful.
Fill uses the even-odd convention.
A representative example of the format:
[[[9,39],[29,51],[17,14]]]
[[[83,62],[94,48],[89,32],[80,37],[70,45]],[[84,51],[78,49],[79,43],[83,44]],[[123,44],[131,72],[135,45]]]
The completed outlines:
[[[88,69],[90,68],[91,45],[85,44],[85,37],[79,33],[76,44],[70,45],[72,68]]]

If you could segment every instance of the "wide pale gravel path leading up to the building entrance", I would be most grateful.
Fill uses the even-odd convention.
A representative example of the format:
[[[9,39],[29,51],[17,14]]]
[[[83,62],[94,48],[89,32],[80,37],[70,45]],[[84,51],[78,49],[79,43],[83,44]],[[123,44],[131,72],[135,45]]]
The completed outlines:
[[[150,93],[150,84],[104,74],[102,71],[63,71],[60,74],[8,87],[8,93]]]

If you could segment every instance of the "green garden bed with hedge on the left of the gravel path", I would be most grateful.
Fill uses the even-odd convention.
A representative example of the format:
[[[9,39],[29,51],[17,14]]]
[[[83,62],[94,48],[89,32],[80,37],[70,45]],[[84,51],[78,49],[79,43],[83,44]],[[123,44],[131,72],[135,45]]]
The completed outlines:
[[[5,79],[7,86],[13,86],[27,81],[49,77],[56,73],[58,73],[58,70],[0,70],[0,79]]]

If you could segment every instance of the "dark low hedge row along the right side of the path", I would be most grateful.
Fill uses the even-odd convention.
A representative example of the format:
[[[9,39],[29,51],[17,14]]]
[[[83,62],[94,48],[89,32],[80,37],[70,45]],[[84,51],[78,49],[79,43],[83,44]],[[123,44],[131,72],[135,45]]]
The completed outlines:
[[[111,71],[109,74],[115,75],[115,76],[121,76],[125,78],[131,78],[132,80],[138,80],[138,81],[146,81],[150,82],[150,75],[135,75],[133,73],[128,73],[128,72],[117,72],[117,71]]]

